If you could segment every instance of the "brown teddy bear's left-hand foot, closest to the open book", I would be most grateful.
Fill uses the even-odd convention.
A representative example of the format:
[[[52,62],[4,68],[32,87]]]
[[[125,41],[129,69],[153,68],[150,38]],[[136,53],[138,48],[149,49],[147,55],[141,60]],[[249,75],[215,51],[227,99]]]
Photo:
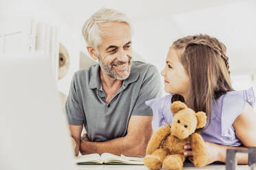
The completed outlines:
[[[147,155],[143,160],[146,167],[152,170],[158,170],[162,168],[162,162],[158,156]]]

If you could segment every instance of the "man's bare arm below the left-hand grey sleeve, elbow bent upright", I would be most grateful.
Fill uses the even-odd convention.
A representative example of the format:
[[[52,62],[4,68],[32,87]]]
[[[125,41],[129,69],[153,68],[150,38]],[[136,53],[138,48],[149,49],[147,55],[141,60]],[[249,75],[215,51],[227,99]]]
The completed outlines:
[[[83,125],[69,125],[69,127],[70,127],[70,134],[76,143],[76,146],[74,148],[74,154],[75,156],[78,156]]]

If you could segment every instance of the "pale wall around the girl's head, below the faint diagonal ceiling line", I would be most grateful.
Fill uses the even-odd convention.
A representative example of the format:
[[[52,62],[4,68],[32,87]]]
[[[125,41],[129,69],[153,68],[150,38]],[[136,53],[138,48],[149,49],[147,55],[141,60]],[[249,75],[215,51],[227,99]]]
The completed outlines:
[[[255,1],[233,1],[178,14],[158,14],[134,23],[134,49],[161,71],[174,40],[209,34],[227,47],[234,88],[242,90],[253,86],[256,89],[255,79],[251,79],[256,73],[255,18]]]

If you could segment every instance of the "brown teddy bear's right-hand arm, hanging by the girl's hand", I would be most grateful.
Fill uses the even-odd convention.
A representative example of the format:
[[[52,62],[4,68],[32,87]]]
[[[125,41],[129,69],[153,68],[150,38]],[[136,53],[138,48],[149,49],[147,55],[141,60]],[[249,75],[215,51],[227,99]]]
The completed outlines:
[[[190,136],[191,148],[193,151],[193,162],[196,167],[204,167],[208,162],[208,153],[204,139],[198,133]]]

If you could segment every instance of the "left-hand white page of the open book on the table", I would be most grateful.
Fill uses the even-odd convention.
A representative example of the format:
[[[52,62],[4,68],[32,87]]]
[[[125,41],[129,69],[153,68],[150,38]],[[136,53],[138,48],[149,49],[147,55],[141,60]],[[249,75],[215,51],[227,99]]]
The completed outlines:
[[[103,159],[100,157],[99,154],[87,154],[87,155],[77,156],[75,159],[75,162],[78,164],[86,164],[86,163],[90,163],[90,162],[103,164]]]

